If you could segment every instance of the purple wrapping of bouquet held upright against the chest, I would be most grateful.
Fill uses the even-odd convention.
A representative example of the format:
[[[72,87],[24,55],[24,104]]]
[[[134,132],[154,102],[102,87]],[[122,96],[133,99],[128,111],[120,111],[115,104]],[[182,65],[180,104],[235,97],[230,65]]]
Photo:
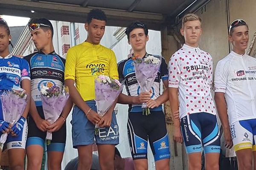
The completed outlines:
[[[161,62],[160,62],[161,63]],[[140,85],[142,92],[149,92],[154,79],[157,76],[157,72],[160,68],[160,64],[147,64],[145,62],[134,62],[134,69],[137,82]],[[142,108],[147,108],[147,104],[143,103]]]

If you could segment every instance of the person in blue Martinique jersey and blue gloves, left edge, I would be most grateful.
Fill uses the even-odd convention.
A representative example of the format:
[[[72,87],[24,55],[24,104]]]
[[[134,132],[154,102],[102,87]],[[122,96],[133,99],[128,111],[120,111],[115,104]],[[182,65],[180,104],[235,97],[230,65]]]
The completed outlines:
[[[25,59],[15,57],[9,52],[11,34],[6,21],[0,18],[0,94],[18,86],[26,90],[30,96],[29,64]],[[12,45],[12,44],[11,44]],[[30,102],[30,97],[27,98]],[[29,112],[29,104],[26,105],[22,116],[15,125],[4,121],[2,104],[0,101],[0,135],[8,133],[6,146],[11,170],[24,169],[25,145],[27,136],[26,116]],[[1,153],[0,153],[1,155]]]

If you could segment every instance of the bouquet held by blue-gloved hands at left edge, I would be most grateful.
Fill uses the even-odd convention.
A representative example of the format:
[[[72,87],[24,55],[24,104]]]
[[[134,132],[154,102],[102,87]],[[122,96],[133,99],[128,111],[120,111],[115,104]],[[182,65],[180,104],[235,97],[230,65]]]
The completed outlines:
[[[26,104],[27,94],[23,88],[17,86],[13,87],[10,91],[4,91],[1,95],[3,119],[14,125],[22,116]],[[3,133],[0,137],[0,143],[6,142],[8,134]]]

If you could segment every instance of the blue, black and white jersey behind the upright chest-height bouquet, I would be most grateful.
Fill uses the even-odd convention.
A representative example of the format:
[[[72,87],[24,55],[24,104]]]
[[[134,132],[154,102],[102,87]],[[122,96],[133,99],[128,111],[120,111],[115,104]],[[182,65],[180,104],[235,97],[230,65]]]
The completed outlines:
[[[145,57],[151,54],[146,54]],[[161,58],[160,56],[153,55],[154,57]],[[119,80],[125,80],[126,91],[129,96],[138,96],[141,93],[141,88],[137,82],[135,70],[134,70],[134,61],[131,57],[124,59],[118,63],[118,73]],[[168,80],[168,70],[165,59],[162,57],[161,65],[159,71],[157,72],[157,77],[154,80],[154,83],[151,87],[151,99],[157,99],[160,96],[160,81]],[[162,111],[162,106],[158,108],[151,109],[152,111]],[[130,105],[129,111],[131,112],[141,112],[141,105]]]

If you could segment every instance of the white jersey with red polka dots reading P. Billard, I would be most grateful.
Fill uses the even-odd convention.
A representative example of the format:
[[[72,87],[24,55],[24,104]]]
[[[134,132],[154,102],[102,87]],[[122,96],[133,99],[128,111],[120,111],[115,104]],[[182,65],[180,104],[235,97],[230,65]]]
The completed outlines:
[[[191,113],[216,114],[211,85],[211,55],[184,44],[169,61],[169,88],[178,88],[180,118]]]

